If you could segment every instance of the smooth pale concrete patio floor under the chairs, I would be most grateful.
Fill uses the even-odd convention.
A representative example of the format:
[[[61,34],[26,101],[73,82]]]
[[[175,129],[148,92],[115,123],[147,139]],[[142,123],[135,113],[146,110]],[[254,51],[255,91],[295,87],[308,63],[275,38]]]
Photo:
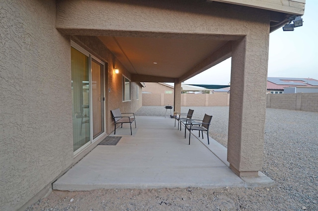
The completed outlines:
[[[226,161],[227,149],[207,136],[197,139],[174,127],[174,119],[136,116],[137,128],[116,129],[122,136],[115,146],[98,145],[60,177],[54,190],[88,191],[124,188],[270,187],[274,181],[239,178]],[[135,125],[133,124],[133,127]],[[195,132],[197,135],[197,131]]]

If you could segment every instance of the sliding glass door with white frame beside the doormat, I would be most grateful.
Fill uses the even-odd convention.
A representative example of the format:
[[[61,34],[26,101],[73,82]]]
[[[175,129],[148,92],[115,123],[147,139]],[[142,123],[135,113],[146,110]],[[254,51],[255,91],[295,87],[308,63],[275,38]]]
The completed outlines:
[[[75,46],[71,47],[74,152],[105,134],[104,63]]]

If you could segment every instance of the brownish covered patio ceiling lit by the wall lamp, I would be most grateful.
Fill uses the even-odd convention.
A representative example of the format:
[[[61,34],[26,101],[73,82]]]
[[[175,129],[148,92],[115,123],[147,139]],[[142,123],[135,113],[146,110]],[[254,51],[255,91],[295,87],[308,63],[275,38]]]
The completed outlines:
[[[222,40],[120,36],[98,38],[132,74],[132,81],[182,82],[231,56],[227,46],[229,40],[224,40],[224,37]],[[226,51],[220,51],[223,47]]]

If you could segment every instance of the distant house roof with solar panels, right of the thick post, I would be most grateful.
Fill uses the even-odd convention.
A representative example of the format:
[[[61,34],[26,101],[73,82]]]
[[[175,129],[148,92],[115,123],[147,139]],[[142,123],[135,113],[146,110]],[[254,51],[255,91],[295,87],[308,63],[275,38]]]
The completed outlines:
[[[303,78],[267,78],[267,90],[284,90],[286,87],[312,87],[318,86],[316,79],[303,79]]]

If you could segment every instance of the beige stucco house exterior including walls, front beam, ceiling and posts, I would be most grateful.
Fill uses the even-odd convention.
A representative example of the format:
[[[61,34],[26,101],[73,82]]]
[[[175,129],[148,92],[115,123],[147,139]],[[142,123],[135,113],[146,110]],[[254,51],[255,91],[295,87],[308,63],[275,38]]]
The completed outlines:
[[[111,109],[133,112],[142,106],[142,89],[139,100],[136,97],[139,82],[174,82],[174,110],[180,112],[181,82],[232,56],[228,161],[238,175],[255,176],[262,167],[270,24],[282,24],[284,19],[277,19],[281,13],[273,13],[270,8],[208,3],[1,2],[0,210],[23,209],[43,197],[51,183],[98,142],[74,156],[71,40],[108,63],[106,134],[113,130]],[[286,10],[282,16],[289,14]],[[159,69],[150,68],[145,57],[140,61],[133,58],[133,50],[125,55],[111,51],[117,49],[111,46],[115,42],[105,46],[103,36],[117,37],[117,44],[126,42],[127,50],[143,37],[158,46],[173,39],[184,46],[180,50],[184,55],[172,56],[166,64],[159,64]],[[194,59],[191,40],[201,46],[197,52],[202,57]],[[205,45],[211,46],[211,51]],[[158,55],[156,52],[150,52],[154,56],[150,59]],[[190,54],[186,58],[191,62],[171,70],[173,61],[185,62],[186,54]],[[115,74],[114,68],[120,73]],[[132,81],[129,102],[122,102],[122,75]]]

